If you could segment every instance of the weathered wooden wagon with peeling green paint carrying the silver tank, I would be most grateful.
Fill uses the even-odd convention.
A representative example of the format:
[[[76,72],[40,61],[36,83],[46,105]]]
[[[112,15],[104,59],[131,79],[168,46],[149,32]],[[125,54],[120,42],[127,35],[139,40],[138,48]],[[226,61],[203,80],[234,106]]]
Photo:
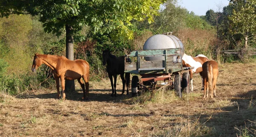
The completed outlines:
[[[133,73],[131,80],[132,95],[138,95],[142,91],[156,89],[164,85],[175,89],[181,98],[182,91],[189,92],[189,69],[182,67],[181,48],[134,50],[128,58],[134,58],[135,62],[125,62],[125,73]],[[146,61],[145,58],[161,56],[163,60]],[[159,84],[159,82],[161,82]]]

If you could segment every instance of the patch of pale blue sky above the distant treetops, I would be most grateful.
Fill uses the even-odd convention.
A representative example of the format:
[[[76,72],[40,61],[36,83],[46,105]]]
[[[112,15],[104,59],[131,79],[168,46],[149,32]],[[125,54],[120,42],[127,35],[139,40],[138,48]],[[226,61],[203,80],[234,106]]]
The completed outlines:
[[[218,7],[228,6],[229,0],[178,0],[178,5],[186,8],[188,11],[193,11],[196,15],[205,15],[206,11],[212,9],[218,11]]]

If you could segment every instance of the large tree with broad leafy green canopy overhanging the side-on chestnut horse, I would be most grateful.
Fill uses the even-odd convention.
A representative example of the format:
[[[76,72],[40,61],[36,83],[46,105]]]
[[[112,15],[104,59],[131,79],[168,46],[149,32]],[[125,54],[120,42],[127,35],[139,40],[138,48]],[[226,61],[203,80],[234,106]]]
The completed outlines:
[[[133,32],[129,29],[131,21],[147,18],[149,23],[153,22],[153,16],[165,1],[1,0],[0,14],[1,17],[21,13],[39,15],[45,31],[53,32],[57,36],[66,33],[66,57],[73,60],[73,36],[76,36],[84,25],[90,26],[94,33],[107,33],[112,37],[125,35],[132,39]],[[74,83],[72,85],[74,87]]]

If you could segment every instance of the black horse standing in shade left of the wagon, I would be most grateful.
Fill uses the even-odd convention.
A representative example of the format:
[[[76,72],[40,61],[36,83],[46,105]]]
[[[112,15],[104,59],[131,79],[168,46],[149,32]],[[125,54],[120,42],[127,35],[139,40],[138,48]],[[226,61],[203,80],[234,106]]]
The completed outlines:
[[[108,50],[103,50],[102,51],[102,58],[103,58],[103,65],[107,64],[107,72],[108,72],[108,77],[111,82],[111,87],[112,87],[112,94],[111,96],[116,96],[116,76],[120,75],[122,79],[122,94],[125,92],[125,81],[126,81],[126,86],[127,86],[127,95],[129,94],[128,88],[130,84],[130,73],[125,73],[125,56],[119,56],[116,57],[110,53]],[[127,58],[127,62],[130,62],[130,59]],[[125,74],[125,78],[124,78]],[[114,76],[114,84],[113,84],[113,77]]]

